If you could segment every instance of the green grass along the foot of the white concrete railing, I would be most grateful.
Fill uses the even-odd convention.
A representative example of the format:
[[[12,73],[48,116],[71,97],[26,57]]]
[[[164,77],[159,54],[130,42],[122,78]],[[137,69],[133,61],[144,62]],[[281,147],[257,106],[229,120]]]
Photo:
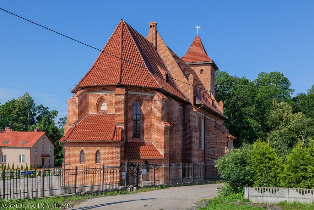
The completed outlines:
[[[243,194],[231,194],[229,196],[217,196],[212,199],[208,199],[208,205],[202,210],[224,210],[224,209],[233,209],[233,210],[246,210],[246,209],[264,209],[261,207],[251,207],[247,205],[234,205],[234,204],[229,204],[228,202],[236,202],[236,201],[244,201],[244,202],[249,202],[247,199],[243,199]],[[202,200],[201,200],[202,201]],[[306,210],[314,210],[314,204],[303,204],[303,203],[287,203],[287,202],[281,202],[278,203],[282,207],[283,210],[301,210],[301,209],[306,209]]]

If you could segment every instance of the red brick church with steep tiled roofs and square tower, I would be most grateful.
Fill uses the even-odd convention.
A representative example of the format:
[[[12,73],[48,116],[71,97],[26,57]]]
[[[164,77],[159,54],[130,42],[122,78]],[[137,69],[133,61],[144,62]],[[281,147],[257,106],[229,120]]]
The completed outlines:
[[[68,99],[63,167],[213,162],[233,148],[215,100],[217,65],[197,35],[178,57],[157,23],[121,20]]]

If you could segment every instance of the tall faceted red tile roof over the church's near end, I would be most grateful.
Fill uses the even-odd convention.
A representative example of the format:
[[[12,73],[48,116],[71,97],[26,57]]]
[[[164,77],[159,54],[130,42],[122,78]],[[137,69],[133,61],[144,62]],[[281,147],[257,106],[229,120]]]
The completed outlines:
[[[110,84],[145,86],[161,88],[186,99],[171,77],[165,82],[164,75],[168,70],[153,44],[123,20],[102,51],[109,54],[100,52],[93,66],[78,82],[78,87]]]

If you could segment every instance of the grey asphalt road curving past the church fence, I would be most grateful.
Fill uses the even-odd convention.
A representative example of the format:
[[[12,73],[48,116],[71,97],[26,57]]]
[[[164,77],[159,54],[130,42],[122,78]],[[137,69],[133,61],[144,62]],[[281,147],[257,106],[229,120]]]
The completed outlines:
[[[129,195],[92,198],[73,206],[73,209],[187,209],[196,201],[216,196],[217,187],[220,185],[222,184],[172,187]]]

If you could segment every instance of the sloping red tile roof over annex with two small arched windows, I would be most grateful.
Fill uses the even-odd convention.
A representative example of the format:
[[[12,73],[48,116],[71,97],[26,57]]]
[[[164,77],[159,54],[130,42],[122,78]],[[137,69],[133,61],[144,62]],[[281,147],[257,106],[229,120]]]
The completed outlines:
[[[115,115],[100,111],[89,114],[63,135],[64,141],[109,141],[121,140],[121,128],[115,126]]]

